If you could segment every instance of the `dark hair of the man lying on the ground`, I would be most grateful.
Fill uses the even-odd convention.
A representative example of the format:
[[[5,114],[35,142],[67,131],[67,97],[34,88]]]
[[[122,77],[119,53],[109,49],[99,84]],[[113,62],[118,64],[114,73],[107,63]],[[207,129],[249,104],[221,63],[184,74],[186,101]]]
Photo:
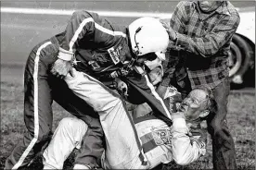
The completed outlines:
[[[215,98],[213,96],[211,89],[207,86],[199,86],[199,87],[193,89],[193,91],[194,90],[206,91],[208,93],[209,102],[208,102],[207,109],[210,111],[210,114],[207,115],[206,117],[204,117],[204,119],[211,121],[211,119],[214,117],[214,115],[217,112],[217,103],[215,101]]]

